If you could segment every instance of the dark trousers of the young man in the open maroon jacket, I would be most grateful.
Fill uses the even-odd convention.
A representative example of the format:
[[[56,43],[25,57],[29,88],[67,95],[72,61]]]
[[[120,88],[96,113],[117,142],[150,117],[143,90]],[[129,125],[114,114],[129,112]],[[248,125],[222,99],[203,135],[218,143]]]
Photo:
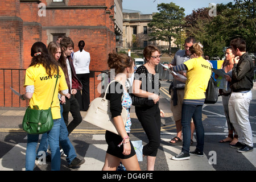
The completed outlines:
[[[70,123],[68,123],[69,111],[73,117],[73,120]],[[79,102],[74,95],[71,95],[69,99],[66,97],[66,104],[63,105],[63,118],[68,129],[68,134],[71,134],[71,132],[82,122]]]

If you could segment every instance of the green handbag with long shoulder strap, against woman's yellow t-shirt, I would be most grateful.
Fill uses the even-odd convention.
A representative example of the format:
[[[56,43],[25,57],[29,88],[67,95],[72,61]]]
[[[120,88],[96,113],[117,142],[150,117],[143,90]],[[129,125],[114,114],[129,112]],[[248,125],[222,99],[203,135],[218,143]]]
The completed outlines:
[[[56,84],[58,80],[59,74],[57,74]],[[53,96],[56,89],[56,84],[53,92]],[[52,96],[52,102],[53,102]],[[51,107],[52,107],[51,102]],[[53,119],[52,119],[52,111],[51,107],[46,110],[40,110],[37,105],[35,105],[32,109],[30,106],[27,107],[26,113],[23,117],[22,127],[23,130],[28,134],[43,134],[47,133],[52,129]]]

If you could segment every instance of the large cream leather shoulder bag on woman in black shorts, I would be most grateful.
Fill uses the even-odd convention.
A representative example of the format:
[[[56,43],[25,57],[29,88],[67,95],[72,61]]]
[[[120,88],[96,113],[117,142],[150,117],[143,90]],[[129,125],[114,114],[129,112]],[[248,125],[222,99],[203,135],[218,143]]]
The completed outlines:
[[[117,80],[111,81],[109,85],[114,81]],[[107,86],[106,90],[108,90],[109,85]],[[92,125],[98,126],[101,129],[105,129],[119,135],[113,123],[112,114],[110,112],[110,101],[106,99],[106,92],[103,98],[95,98],[90,103],[89,109],[87,110],[87,113],[84,117],[84,121],[91,123]],[[121,117],[123,119],[123,126],[125,126],[127,121],[127,111],[125,107],[123,107],[122,109]]]

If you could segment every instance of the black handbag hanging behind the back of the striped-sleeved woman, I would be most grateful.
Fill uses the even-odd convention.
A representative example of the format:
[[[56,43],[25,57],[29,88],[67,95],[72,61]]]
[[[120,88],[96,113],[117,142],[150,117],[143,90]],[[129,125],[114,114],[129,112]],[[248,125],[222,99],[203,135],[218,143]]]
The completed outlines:
[[[205,91],[205,104],[215,104],[218,101],[218,86],[217,81],[213,79],[213,76],[210,76],[208,82],[207,90]]]

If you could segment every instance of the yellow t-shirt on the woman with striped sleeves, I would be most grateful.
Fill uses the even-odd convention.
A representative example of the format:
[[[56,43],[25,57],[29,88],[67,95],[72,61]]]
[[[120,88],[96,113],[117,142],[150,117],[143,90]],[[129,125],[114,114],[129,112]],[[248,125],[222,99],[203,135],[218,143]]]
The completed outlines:
[[[205,90],[208,86],[212,67],[203,57],[185,61],[187,66],[187,81],[185,84],[184,100],[197,100],[205,98]]]

